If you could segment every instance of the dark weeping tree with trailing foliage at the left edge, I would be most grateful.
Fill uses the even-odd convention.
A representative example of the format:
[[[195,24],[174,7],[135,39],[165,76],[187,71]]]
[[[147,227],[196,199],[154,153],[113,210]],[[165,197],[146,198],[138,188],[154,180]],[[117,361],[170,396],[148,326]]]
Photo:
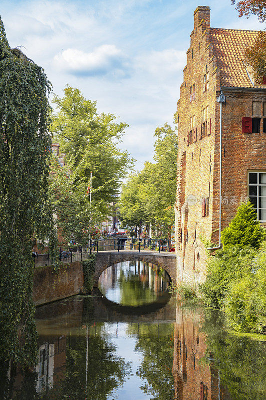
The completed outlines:
[[[0,362],[22,366],[36,355],[32,239],[54,243],[49,90],[43,69],[9,47],[0,19]]]

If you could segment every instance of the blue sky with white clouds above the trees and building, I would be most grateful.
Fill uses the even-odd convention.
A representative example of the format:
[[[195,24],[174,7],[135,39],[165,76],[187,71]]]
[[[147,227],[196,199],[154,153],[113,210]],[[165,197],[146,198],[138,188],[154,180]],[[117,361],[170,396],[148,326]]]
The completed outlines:
[[[68,83],[129,124],[121,149],[152,161],[154,131],[172,127],[198,5],[211,26],[263,29],[256,16],[239,18],[230,0],[1,0],[11,47],[41,65],[63,95]]]

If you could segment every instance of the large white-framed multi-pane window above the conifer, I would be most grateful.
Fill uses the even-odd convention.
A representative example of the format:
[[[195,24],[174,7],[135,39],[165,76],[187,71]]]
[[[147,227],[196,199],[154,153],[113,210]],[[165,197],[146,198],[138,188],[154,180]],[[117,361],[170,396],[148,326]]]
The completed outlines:
[[[249,198],[258,219],[266,222],[266,171],[249,171]]]

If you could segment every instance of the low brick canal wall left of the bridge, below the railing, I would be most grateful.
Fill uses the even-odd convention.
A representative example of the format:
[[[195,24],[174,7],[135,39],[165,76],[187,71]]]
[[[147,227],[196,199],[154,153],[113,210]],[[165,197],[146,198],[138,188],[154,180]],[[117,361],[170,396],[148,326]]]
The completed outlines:
[[[83,270],[80,261],[69,264],[66,272],[52,272],[51,267],[35,268],[33,275],[33,302],[45,304],[79,293],[83,285]]]

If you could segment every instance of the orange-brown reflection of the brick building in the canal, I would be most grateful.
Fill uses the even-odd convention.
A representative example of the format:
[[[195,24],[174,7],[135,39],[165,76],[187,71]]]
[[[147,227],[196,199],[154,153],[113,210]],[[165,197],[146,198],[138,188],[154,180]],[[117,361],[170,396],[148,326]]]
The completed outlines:
[[[178,312],[173,361],[175,400],[230,400],[220,385],[219,371],[203,362],[205,354],[205,335],[199,332],[199,316],[192,311]]]

